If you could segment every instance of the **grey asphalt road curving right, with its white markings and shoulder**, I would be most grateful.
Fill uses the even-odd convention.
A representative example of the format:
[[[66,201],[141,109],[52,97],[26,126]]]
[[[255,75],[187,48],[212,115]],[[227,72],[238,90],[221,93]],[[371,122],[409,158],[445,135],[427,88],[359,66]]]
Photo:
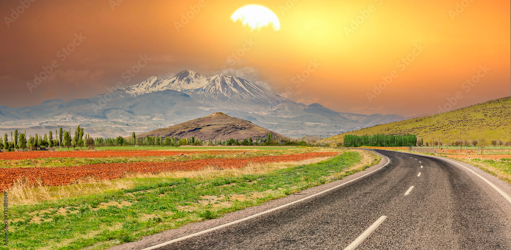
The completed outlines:
[[[232,221],[271,206],[113,248],[511,249],[511,200],[505,197],[511,195],[511,185],[468,164],[378,152],[389,162],[384,157],[379,166],[326,185],[323,190],[342,184],[307,200],[298,201],[321,190],[305,190],[303,197],[272,206],[298,201],[292,205],[238,223]],[[201,232],[216,226],[220,228]]]

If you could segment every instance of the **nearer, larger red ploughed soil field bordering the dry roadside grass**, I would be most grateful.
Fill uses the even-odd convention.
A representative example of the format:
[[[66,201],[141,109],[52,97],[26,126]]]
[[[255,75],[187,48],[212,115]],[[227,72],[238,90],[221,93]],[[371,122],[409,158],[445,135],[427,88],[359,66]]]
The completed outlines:
[[[31,184],[40,178],[44,185],[59,186],[68,185],[73,181],[95,176],[102,180],[120,178],[125,173],[158,173],[168,171],[193,171],[206,166],[218,166],[222,169],[238,169],[248,162],[270,163],[281,161],[300,161],[316,157],[336,156],[338,152],[312,152],[304,154],[290,154],[278,156],[260,156],[237,159],[197,159],[188,161],[172,162],[129,162],[90,164],[61,168],[2,168],[0,169],[0,190],[12,186],[15,180],[28,178]]]

